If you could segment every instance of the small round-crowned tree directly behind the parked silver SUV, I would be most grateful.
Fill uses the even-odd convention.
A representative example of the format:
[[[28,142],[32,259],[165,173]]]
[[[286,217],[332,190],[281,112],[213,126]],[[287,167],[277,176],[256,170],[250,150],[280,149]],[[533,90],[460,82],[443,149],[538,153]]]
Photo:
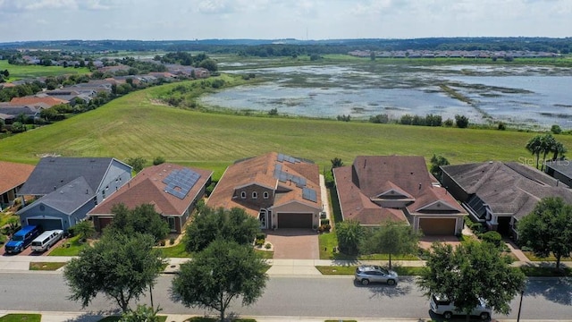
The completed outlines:
[[[391,255],[413,254],[418,249],[421,233],[417,233],[411,225],[403,225],[394,221],[383,222],[379,228],[366,233],[360,252],[366,254]]]

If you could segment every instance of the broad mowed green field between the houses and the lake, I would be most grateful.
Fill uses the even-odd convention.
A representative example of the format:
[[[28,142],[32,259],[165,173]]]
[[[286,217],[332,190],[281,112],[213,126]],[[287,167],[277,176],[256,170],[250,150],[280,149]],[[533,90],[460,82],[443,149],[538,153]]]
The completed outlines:
[[[176,84],[165,85],[168,87]],[[358,155],[433,154],[451,164],[488,160],[532,162],[525,145],[537,133],[432,128],[297,118],[200,113],[153,103],[165,87],[133,92],[60,123],[0,140],[0,159],[35,164],[40,156],[154,157],[213,169],[269,151],[331,165]],[[572,136],[557,135],[568,148]]]

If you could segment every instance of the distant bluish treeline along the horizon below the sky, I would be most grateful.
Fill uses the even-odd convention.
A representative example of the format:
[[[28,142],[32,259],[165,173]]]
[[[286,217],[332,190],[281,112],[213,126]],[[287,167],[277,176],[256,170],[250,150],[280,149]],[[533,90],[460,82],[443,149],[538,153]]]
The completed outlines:
[[[572,38],[413,38],[413,39],[205,39],[205,40],[65,40],[0,43],[2,50],[59,49],[95,53],[105,51],[199,51],[254,56],[347,54],[353,50],[528,50],[569,54]]]

